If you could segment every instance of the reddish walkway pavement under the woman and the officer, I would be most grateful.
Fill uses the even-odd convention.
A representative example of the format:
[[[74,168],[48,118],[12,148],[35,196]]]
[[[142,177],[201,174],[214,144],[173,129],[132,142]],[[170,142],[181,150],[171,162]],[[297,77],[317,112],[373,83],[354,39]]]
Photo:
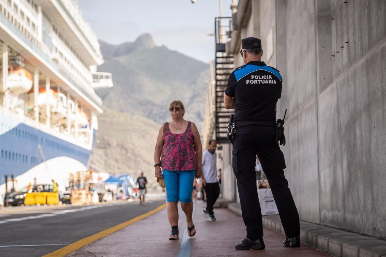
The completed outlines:
[[[140,206],[139,206],[140,207]],[[208,221],[202,213],[205,204],[195,203],[195,227],[197,233],[190,241],[190,256],[329,256],[324,252],[302,243],[300,248],[284,248],[284,235],[264,227],[264,250],[235,250],[234,244],[244,239],[245,226],[242,218],[227,209],[215,209],[217,221]],[[185,215],[179,206],[179,236],[169,241],[171,228],[166,216],[166,208],[138,221],[112,235],[83,247],[67,256],[178,256],[184,235]],[[187,235],[185,235],[186,237]],[[186,250],[186,249],[185,249]],[[181,249],[182,253],[183,249]],[[180,256],[181,256],[180,253]]]

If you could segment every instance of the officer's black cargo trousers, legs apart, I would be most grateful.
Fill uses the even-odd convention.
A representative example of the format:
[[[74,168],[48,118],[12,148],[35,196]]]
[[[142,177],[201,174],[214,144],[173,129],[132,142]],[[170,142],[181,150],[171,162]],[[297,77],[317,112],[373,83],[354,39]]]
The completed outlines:
[[[300,235],[298,210],[288,188],[288,181],[284,177],[284,155],[279,145],[274,142],[275,136],[276,130],[273,127],[245,125],[236,128],[232,139],[232,167],[237,180],[247,237],[251,239],[263,236],[256,185],[256,155],[267,176],[286,236],[290,238]]]

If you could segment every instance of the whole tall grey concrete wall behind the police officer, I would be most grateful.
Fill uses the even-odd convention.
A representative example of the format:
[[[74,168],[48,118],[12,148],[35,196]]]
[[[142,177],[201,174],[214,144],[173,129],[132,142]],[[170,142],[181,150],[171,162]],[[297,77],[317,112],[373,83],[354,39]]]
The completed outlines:
[[[386,237],[386,1],[345,2],[240,0],[235,34],[266,51],[274,30],[268,65],[283,75],[281,149],[300,218]]]

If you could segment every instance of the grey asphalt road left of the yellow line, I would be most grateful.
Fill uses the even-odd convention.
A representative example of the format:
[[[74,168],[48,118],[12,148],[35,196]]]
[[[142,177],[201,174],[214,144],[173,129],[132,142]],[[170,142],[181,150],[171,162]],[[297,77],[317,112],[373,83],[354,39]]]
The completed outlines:
[[[147,213],[165,200],[0,211],[0,256],[34,257]],[[41,208],[43,207],[43,208]]]

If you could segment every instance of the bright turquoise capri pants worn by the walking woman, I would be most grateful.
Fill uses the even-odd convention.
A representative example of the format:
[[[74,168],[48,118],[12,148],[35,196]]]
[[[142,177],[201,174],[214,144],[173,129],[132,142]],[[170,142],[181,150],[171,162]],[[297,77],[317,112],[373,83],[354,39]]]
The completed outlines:
[[[163,170],[168,202],[190,203],[196,171]]]

